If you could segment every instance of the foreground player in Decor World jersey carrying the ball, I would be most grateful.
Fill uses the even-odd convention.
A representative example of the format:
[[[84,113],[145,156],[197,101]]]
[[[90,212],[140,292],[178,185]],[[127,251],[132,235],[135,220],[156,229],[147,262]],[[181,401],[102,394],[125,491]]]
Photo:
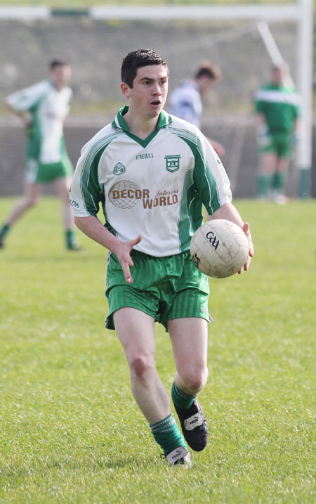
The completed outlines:
[[[210,219],[243,228],[249,239],[244,269],[253,246],[218,155],[197,127],[164,112],[168,77],[155,51],[139,49],[124,58],[121,91],[129,105],[82,149],[70,195],[77,226],[110,250],[106,325],[124,348],[133,396],[167,461],[190,465],[187,445],[201,451],[208,437],[197,394],[208,375],[209,283],[190,258],[202,205]],[[171,338],[171,396],[185,439],[157,373],[155,321]]]

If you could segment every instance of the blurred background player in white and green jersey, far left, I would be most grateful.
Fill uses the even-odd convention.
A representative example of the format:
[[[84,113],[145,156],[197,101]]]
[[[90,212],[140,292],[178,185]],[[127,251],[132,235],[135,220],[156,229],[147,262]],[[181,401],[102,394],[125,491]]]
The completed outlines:
[[[25,190],[0,228],[0,247],[14,222],[36,205],[44,183],[53,183],[62,201],[62,221],[66,246],[78,250],[74,237],[74,218],[69,201],[73,167],[65,149],[63,122],[69,113],[72,90],[67,86],[70,65],[53,60],[49,78],[6,98],[27,131]]]

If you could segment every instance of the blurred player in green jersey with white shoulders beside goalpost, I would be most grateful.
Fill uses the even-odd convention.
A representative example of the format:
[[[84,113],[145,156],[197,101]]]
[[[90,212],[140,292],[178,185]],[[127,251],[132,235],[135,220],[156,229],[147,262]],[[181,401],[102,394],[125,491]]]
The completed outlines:
[[[287,63],[273,65],[271,82],[255,94],[260,165],[257,195],[283,204],[289,162],[298,140],[299,96],[289,82]]]

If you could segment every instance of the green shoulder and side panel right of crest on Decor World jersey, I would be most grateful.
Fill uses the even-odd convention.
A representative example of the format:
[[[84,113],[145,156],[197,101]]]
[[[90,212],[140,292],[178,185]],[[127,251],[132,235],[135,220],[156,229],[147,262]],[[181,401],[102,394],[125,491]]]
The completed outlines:
[[[187,237],[195,233],[202,224],[202,202],[206,211],[213,214],[220,207],[220,200],[216,181],[199,137],[185,129],[172,126],[166,129],[182,138],[195,157],[195,167],[185,176],[183,186],[183,195],[187,195],[187,200],[183,198],[180,207],[179,240],[181,250],[186,250]],[[187,214],[188,219],[184,218],[184,214]]]

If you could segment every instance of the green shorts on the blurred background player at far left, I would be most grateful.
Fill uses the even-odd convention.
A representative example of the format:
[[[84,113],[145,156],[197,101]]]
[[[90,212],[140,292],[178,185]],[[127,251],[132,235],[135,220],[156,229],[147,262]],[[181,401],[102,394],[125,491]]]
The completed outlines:
[[[50,183],[65,176],[72,176],[74,168],[67,155],[59,162],[42,164],[34,159],[27,159],[25,181],[27,183]]]

